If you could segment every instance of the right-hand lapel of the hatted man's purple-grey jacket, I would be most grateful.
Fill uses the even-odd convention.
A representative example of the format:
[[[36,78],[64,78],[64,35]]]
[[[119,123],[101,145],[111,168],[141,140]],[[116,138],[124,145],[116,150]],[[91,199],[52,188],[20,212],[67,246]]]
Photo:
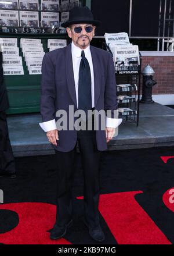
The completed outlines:
[[[93,63],[93,73],[94,73],[94,84],[95,84],[95,106],[97,105],[97,100],[99,99],[100,89],[101,89],[101,76],[100,76],[100,63],[97,57],[95,48],[90,46],[90,52],[92,55]]]

